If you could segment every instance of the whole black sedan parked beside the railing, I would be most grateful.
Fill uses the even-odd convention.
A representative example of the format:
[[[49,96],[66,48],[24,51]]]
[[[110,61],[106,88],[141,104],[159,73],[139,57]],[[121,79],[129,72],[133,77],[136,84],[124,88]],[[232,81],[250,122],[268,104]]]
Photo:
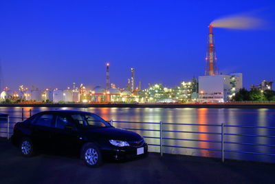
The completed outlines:
[[[23,156],[41,150],[77,152],[90,167],[101,165],[102,159],[129,159],[148,152],[139,134],[115,128],[96,114],[69,110],[39,112],[17,123],[12,143]]]

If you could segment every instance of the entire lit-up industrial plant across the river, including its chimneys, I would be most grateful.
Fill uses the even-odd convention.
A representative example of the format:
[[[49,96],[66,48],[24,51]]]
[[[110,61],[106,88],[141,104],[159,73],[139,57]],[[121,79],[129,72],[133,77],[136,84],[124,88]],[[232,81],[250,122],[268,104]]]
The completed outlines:
[[[204,76],[190,81],[180,81],[173,88],[162,83],[148,84],[142,89],[141,81],[135,84],[135,68],[130,68],[131,76],[126,85],[119,88],[110,81],[110,63],[106,63],[106,85],[97,85],[88,89],[84,84],[72,83],[67,89],[39,90],[19,86],[16,92],[9,88],[1,92],[1,102],[16,101],[18,103],[191,103],[191,102],[226,102],[230,101],[243,88],[241,73],[219,74],[214,45],[213,25],[209,25],[208,46],[206,52],[206,69]],[[252,85],[253,90],[272,90],[272,81],[263,81],[260,85]]]

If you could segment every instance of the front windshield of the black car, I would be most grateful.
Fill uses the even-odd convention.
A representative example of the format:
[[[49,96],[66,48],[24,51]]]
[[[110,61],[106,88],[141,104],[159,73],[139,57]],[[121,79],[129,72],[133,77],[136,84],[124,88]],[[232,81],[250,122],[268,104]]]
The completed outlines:
[[[109,123],[96,114],[73,114],[72,119],[80,127],[111,127]]]

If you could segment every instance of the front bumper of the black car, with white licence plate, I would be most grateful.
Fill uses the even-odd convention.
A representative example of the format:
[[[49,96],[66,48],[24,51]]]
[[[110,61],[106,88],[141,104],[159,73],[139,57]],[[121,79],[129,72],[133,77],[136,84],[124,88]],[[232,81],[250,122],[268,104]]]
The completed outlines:
[[[137,148],[144,147],[143,154],[137,154]],[[112,147],[110,149],[102,150],[102,154],[104,159],[115,159],[115,160],[124,160],[124,159],[135,159],[142,156],[146,156],[148,154],[148,145],[144,143],[144,145],[139,147]]]

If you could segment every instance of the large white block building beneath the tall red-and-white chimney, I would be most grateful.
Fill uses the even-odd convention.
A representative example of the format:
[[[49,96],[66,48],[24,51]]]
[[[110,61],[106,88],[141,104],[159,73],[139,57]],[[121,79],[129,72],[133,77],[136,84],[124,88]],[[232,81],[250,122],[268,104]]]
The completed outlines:
[[[243,74],[199,76],[199,101],[225,102],[243,88]]]

